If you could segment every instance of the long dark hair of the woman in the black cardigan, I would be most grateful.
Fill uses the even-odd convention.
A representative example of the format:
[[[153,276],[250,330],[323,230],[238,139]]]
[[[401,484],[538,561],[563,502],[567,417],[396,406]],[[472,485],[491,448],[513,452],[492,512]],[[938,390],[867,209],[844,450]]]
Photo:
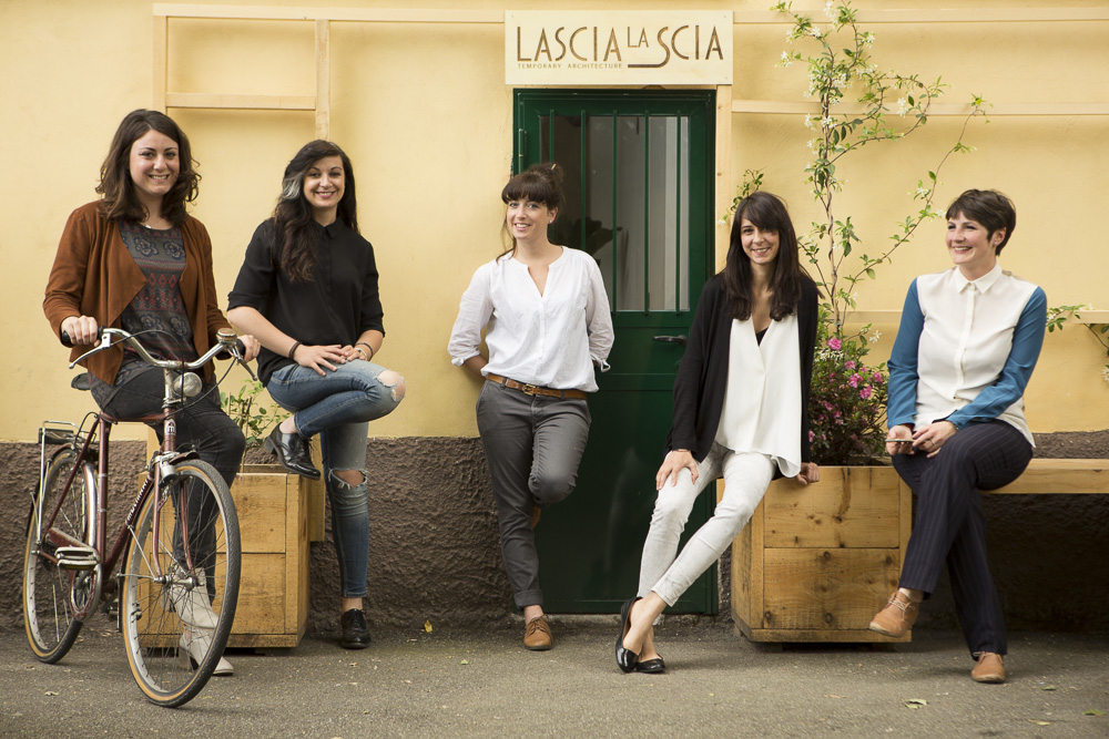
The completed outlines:
[[[735,208],[732,220],[731,243],[724,265],[724,291],[732,306],[732,317],[751,318],[751,258],[743,250],[742,223],[746,218],[763,230],[777,232],[777,258],[771,279],[770,317],[782,320],[794,311],[801,300],[801,287],[810,279],[797,259],[797,234],[785,203],[776,195],[762,191],[751,193]]]

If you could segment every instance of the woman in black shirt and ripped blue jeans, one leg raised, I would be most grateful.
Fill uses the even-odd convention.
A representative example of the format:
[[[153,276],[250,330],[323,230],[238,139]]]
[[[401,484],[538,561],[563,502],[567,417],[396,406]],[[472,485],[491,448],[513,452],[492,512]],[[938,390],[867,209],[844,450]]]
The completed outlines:
[[[318,479],[308,440],[321,434],[343,582],[340,644],[363,649],[368,422],[393,412],[405,381],[372,361],[385,340],[377,264],[358,233],[354,170],[342,148],[313,141],[285,167],[273,217],[254,232],[230,300],[231,320],[262,341],[258,376],[269,396],[293,411],[266,449],[285,469]]]

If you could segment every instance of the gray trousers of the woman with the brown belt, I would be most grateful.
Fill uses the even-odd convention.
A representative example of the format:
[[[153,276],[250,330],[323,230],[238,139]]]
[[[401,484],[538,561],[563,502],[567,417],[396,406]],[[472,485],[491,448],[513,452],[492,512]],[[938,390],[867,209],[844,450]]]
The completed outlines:
[[[512,598],[520,608],[541,606],[531,512],[573,491],[589,435],[589,407],[584,400],[528,396],[486,382],[477,417]]]

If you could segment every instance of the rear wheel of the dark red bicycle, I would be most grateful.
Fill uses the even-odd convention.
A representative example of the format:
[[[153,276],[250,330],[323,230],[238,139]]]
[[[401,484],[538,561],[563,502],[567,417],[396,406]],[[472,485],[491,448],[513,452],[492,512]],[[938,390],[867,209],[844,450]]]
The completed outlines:
[[[74,544],[84,543],[89,531],[85,486],[90,478],[78,470],[73,484],[62,496],[77,460],[77,451],[70,448],[54,453],[47,463],[42,490],[31,504],[27,522],[23,626],[34,656],[47,664],[57,663],[73,646],[81,632],[81,622],[73,618],[73,603],[83,606],[90,596],[90,574],[62,569],[54,556],[58,538],[67,538]],[[50,537],[45,524],[55,509],[58,515],[52,526],[55,536]]]

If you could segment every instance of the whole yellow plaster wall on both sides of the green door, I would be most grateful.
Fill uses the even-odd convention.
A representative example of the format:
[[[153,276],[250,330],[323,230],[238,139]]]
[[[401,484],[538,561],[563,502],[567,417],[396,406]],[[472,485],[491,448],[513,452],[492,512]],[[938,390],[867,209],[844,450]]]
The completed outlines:
[[[217,3],[204,3],[217,4]],[[242,3],[236,3],[242,4]],[[311,2],[253,4],[309,6]],[[328,1],[334,7],[398,3]],[[409,3],[411,4],[411,3]],[[455,8],[457,2],[415,3]],[[472,2],[528,9],[537,2]],[[659,9],[672,2],[601,7]],[[762,10],[767,2],[699,2]],[[802,3],[797,3],[801,6]],[[822,3],[812,3],[820,8]],[[887,3],[858,3],[888,8]],[[942,0],[906,7],[943,8]],[[1038,7],[984,0],[980,8]],[[1096,2],[1072,2],[1071,6]],[[65,217],[94,199],[109,140],[128,111],[152,102],[151,2],[8,0],[0,3],[0,440],[29,440],[43,418],[73,418],[91,399],[70,390],[65,352],[40,304]],[[1101,101],[1109,89],[1109,23],[922,24],[871,28],[883,66],[943,75],[948,101],[970,93],[1003,102]],[[772,65],[784,25],[736,25],[733,96],[796,101],[795,66]],[[511,90],[503,84],[501,25],[337,23],[332,28],[332,132],[353,157],[359,222],[381,271],[388,337],[383,363],[400,370],[409,397],[375,424],[380,435],[472,435],[477,383],[452,368],[446,340],[474,269],[499,250],[498,198],[511,157]],[[305,22],[173,21],[170,89],[311,94],[313,29]],[[204,177],[193,213],[213,236],[216,283],[226,294],[255,226],[273,207],[282,170],[313,136],[312,113],[171,110]],[[766,171],[798,225],[815,215],[803,185],[806,132],[800,116],[736,114],[734,178]],[[884,242],[912,207],[908,192],[953,141],[959,122],[935,117],[910,142],[876,147],[847,174],[849,204],[868,242]],[[1100,216],[1107,191],[1105,116],[995,117],[971,124],[978,147],[945,168],[942,201],[969,186],[1005,189],[1018,228],[1005,266],[1041,284],[1051,305],[1109,307]],[[899,308],[913,276],[943,268],[943,225],[922,229],[875,283],[863,308]],[[879,327],[884,337],[895,327]],[[888,353],[886,341],[875,357]],[[1109,427],[1109,386],[1099,347],[1083,330],[1050,335],[1029,389],[1034,430]],[[228,380],[237,389],[244,376]],[[1065,389],[1064,389],[1065,388]],[[143,438],[140,429],[125,431]]]

